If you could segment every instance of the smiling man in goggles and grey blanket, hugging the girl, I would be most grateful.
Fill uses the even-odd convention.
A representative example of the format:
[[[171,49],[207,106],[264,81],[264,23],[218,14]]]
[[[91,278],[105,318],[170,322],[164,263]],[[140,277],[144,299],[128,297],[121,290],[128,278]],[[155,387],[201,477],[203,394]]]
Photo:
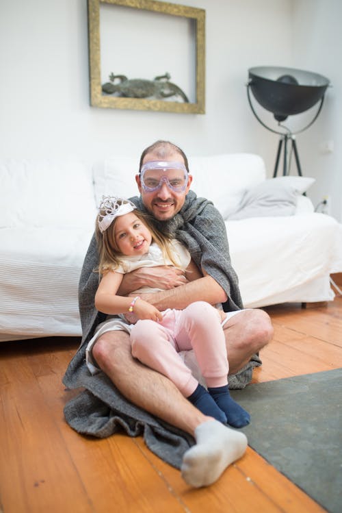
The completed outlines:
[[[157,141],[142,153],[140,171],[143,164],[148,163],[153,165],[144,167],[153,168],[153,182],[148,186],[142,175],[137,175],[135,179],[141,197],[133,198],[133,201],[138,208],[153,215],[159,229],[166,230],[187,246],[203,277],[187,283],[181,271],[174,268],[140,268],[125,275],[119,292],[131,295],[142,286],[161,288],[161,292],[142,295],[161,311],[185,308],[199,300],[223,303],[228,312],[224,334],[229,373],[238,373],[233,376],[233,386],[243,388],[250,381],[253,366],[261,363],[252,355],[272,338],[269,316],[261,310],[241,310],[237,277],[231,267],[222,217],[210,201],[197,198],[189,190],[192,175],[187,174],[182,190],[172,185],[172,167],[177,163],[185,164],[189,172],[183,151],[170,142]],[[215,179],[212,174],[209,176],[209,179]],[[101,322],[101,316],[94,311],[98,283],[92,273],[97,258],[94,247],[92,240],[80,279],[83,346]],[[181,465],[187,483],[192,486],[213,483],[228,464],[244,453],[246,437],[243,434],[203,415],[171,381],[133,359],[127,331],[107,331],[98,336],[92,347],[92,358],[131,403],[194,436],[196,445],[185,452]],[[68,386],[73,381],[70,379],[73,370],[73,366],[69,367],[66,373],[64,383]]]

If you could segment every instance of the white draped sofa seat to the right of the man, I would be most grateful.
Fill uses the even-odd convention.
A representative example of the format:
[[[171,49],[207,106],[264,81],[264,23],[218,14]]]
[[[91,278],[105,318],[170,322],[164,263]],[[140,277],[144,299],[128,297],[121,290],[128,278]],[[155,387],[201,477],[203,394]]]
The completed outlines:
[[[302,288],[342,265],[342,225],[326,214],[253,217],[225,223],[245,308],[285,301],[330,301],[328,288]],[[302,287],[302,288],[301,288]]]

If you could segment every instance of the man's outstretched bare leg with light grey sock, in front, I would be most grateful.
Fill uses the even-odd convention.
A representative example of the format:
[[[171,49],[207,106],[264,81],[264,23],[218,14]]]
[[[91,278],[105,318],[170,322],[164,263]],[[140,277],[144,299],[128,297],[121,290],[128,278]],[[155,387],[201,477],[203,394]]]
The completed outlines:
[[[203,415],[172,381],[135,360],[124,331],[103,334],[92,355],[129,401],[194,436],[196,445],[185,452],[181,466],[183,479],[190,486],[209,486],[244,455],[246,436]]]

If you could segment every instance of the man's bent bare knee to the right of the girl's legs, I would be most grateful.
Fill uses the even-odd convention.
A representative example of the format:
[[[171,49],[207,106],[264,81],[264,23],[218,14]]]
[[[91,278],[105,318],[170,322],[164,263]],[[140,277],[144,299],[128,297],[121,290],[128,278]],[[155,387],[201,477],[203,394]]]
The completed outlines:
[[[273,336],[271,319],[263,310],[244,310],[224,325],[229,374],[235,374],[250,357],[267,345]]]

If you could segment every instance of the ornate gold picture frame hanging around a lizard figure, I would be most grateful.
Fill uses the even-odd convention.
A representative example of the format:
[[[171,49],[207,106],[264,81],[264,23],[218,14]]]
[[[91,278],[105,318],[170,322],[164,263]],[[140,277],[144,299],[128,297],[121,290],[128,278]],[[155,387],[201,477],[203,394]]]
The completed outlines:
[[[181,16],[182,18],[187,18],[187,23],[189,21],[189,23],[192,24],[192,34],[195,38],[195,40],[192,41],[192,45],[194,45],[194,53],[196,54],[194,56],[196,62],[193,63],[194,101],[172,101],[172,97],[166,99],[150,99],[147,97],[122,97],[116,96],[116,93],[112,95],[103,92],[103,84],[101,84],[100,8],[105,4],[117,5],[124,8],[140,9],[144,10],[144,12],[155,12],[168,14],[170,16]],[[120,27],[120,29],[122,30],[122,27]],[[88,0],[88,31],[90,62],[90,104],[92,106],[113,109],[154,110],[163,112],[205,114],[205,10],[155,0]],[[165,66],[164,62],[162,66]],[[191,66],[187,66],[187,68],[188,67]],[[113,70],[110,71],[111,76],[114,77],[112,74]],[[115,75],[115,77],[119,76],[121,77],[122,75]],[[135,79],[136,77],[129,78]],[[156,80],[168,80],[169,78],[170,75],[163,75],[162,77],[155,77],[155,79],[152,79],[148,82],[152,85],[156,84],[156,86],[160,87],[159,84],[165,84],[165,82],[156,82]],[[170,82],[168,82],[168,84],[170,84]],[[175,84],[170,84],[170,86],[177,88]],[[176,95],[176,93],[174,93],[174,95]],[[185,96],[185,98],[187,97]]]

